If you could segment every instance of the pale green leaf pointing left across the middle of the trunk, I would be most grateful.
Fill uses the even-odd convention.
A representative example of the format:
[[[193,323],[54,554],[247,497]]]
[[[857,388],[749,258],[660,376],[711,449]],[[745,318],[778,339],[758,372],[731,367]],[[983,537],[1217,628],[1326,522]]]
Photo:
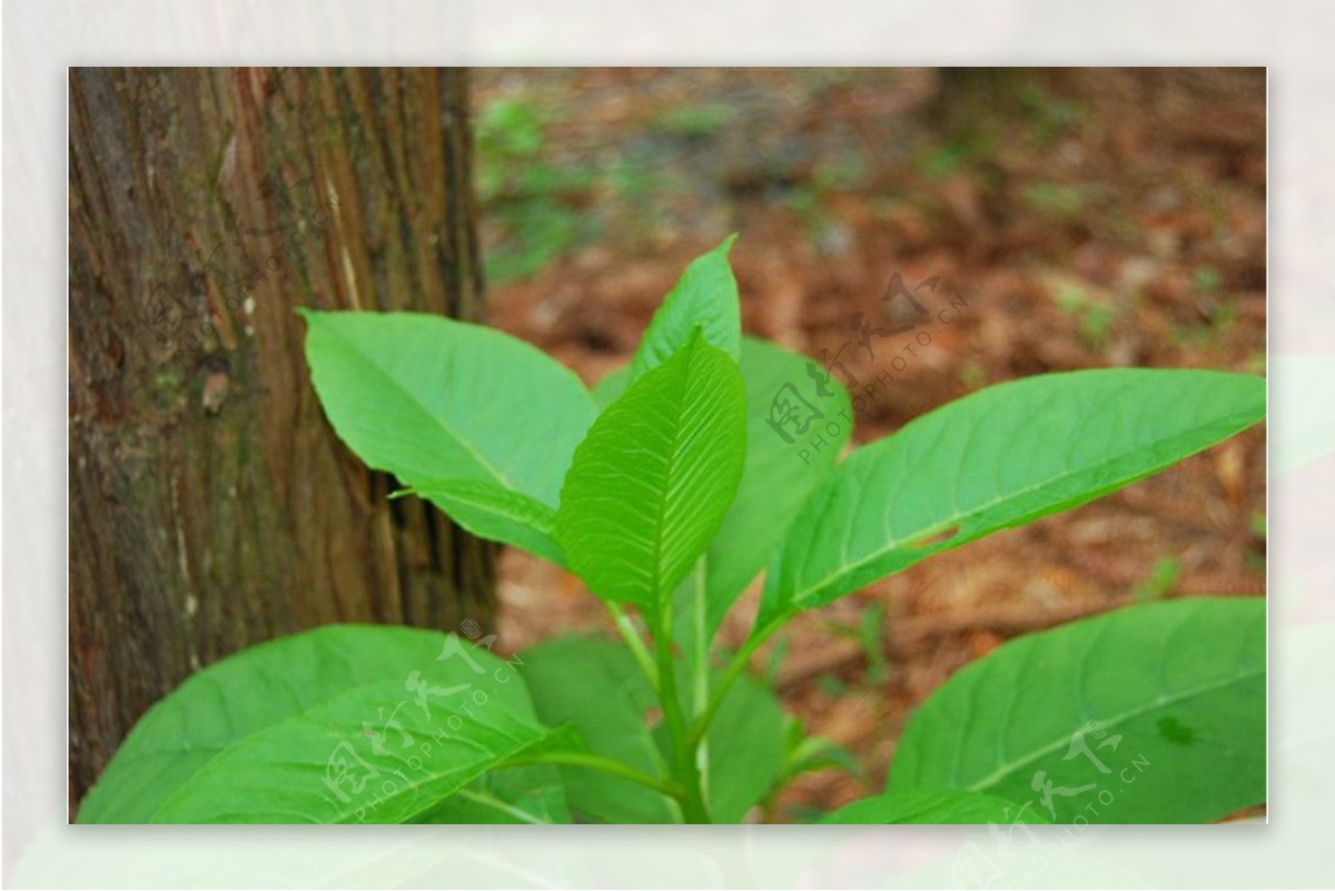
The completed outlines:
[[[491,483],[555,507],[597,413],[574,372],[522,340],[441,316],[303,315],[324,413],[368,467],[410,486]]]

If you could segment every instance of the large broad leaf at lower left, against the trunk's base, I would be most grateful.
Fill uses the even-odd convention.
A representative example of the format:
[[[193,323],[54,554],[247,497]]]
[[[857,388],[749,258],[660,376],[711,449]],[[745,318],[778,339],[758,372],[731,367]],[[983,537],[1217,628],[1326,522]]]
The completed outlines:
[[[224,659],[156,703],[79,822],[406,822],[562,739],[514,667],[457,635],[328,626]]]

